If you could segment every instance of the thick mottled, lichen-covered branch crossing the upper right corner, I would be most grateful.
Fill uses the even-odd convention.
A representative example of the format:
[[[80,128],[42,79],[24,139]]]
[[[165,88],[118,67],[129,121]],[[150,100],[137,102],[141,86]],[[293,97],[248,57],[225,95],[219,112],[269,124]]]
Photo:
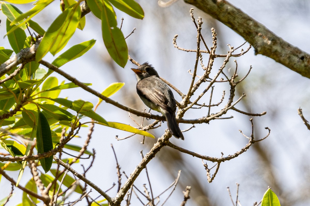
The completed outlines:
[[[224,23],[255,48],[255,54],[270,57],[310,78],[310,55],[275,35],[263,24],[224,0],[184,0]]]

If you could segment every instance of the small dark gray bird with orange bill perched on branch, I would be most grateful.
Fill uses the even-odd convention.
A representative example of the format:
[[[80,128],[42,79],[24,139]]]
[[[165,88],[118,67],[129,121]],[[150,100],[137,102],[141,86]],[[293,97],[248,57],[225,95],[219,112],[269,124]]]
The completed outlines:
[[[137,69],[131,68],[137,76],[137,93],[149,108],[162,113],[166,117],[168,129],[176,138],[184,140],[184,136],[175,119],[176,104],[170,88],[163,82],[148,62]]]

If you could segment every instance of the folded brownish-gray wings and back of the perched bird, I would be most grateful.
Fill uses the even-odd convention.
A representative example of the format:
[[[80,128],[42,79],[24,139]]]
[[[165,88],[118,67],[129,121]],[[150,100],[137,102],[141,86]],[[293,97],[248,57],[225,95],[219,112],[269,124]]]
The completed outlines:
[[[152,84],[150,82],[152,82]],[[166,87],[166,84],[165,83],[163,84],[164,84],[164,87]],[[174,113],[175,110],[173,110],[173,108],[175,107],[175,101],[174,101],[174,105],[171,105],[173,103],[172,102],[170,103],[166,95],[162,93],[160,86],[163,86],[163,84],[161,84],[161,82],[157,82],[157,79],[155,79],[155,81],[154,80],[149,81],[148,78],[144,78],[138,82],[137,92],[141,97],[148,99],[149,101],[154,103],[157,107],[161,107],[166,111]],[[154,109],[154,108],[151,108],[151,109]]]

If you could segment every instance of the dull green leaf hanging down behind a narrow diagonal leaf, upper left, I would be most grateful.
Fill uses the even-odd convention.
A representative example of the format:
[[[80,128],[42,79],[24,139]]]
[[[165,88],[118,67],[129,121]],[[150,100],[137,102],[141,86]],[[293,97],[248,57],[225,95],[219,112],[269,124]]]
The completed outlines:
[[[9,19],[7,19],[7,32],[10,31],[10,29],[12,28],[12,26],[10,26],[10,23],[11,22],[9,21]],[[11,32],[7,35],[10,45],[16,54],[24,48],[26,37],[27,36],[25,31],[20,27],[17,28],[14,32]]]

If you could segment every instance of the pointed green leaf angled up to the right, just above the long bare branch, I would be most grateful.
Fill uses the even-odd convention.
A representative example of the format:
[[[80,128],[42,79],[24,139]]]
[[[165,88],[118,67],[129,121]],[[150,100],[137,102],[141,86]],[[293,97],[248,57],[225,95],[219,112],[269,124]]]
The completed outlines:
[[[94,46],[95,42],[96,40],[92,39],[72,46],[67,51],[60,54],[60,56],[57,57],[52,62],[52,64],[57,67],[61,67],[67,62],[72,61],[78,57],[81,57],[83,54],[85,54],[89,49],[91,49]]]

